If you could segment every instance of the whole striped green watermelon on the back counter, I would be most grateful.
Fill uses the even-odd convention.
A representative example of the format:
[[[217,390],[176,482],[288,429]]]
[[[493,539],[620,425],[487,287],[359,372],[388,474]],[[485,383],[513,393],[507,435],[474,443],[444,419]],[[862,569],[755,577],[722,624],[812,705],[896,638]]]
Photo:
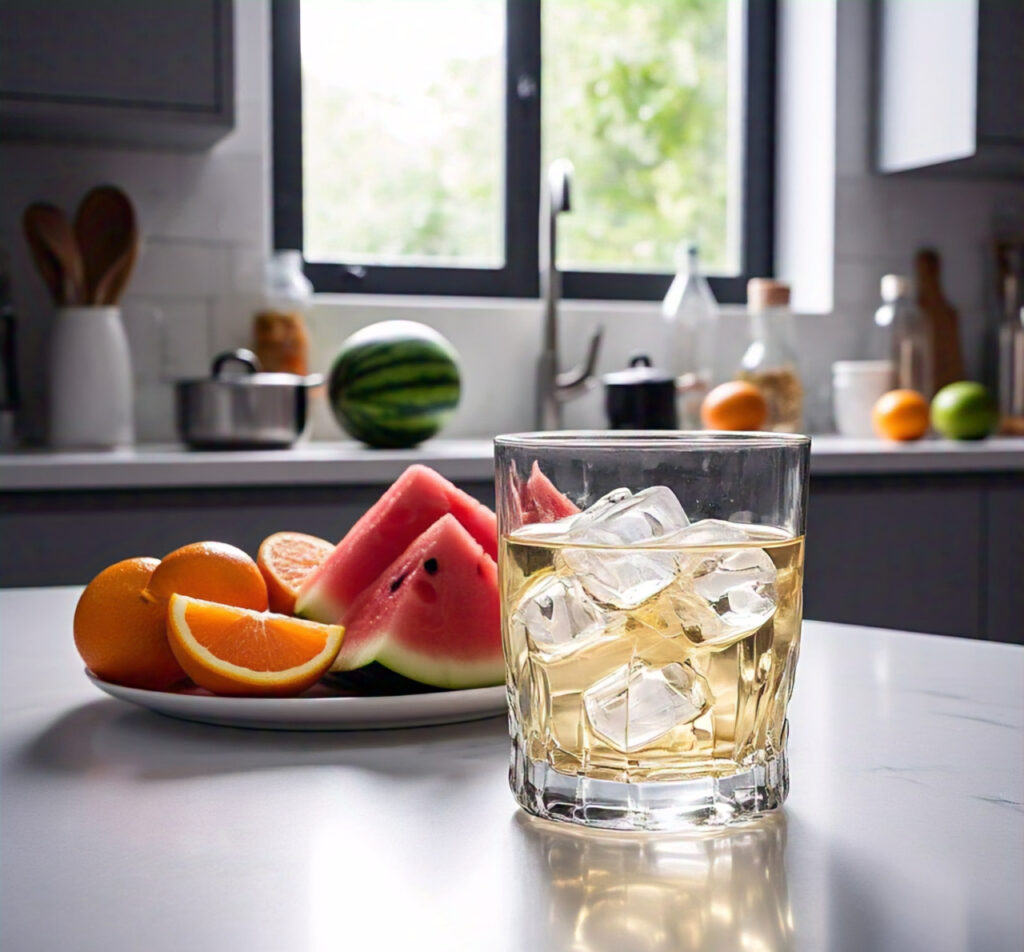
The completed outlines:
[[[383,320],[356,331],[334,358],[328,391],[342,428],[382,448],[415,446],[459,405],[459,355],[415,320]]]

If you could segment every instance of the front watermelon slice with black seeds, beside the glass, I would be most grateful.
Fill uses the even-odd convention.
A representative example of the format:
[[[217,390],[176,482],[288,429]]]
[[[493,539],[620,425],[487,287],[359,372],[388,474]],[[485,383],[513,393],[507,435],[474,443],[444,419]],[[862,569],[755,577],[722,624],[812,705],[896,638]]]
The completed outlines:
[[[438,688],[505,677],[498,566],[454,516],[420,535],[349,612],[331,669],[371,661]]]

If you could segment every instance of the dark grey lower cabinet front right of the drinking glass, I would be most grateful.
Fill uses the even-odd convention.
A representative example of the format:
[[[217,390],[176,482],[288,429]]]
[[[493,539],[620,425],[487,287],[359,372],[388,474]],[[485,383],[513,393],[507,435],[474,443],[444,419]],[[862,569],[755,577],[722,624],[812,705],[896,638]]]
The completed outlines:
[[[818,477],[808,618],[1024,644],[1024,477]]]

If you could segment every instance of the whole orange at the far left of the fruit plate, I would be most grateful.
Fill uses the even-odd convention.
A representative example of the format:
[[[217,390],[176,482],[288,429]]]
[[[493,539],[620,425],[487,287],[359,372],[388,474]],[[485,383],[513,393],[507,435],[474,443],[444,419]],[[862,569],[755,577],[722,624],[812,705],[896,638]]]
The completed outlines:
[[[167,608],[144,595],[157,559],[125,559],[86,586],[75,608],[75,647],[97,678],[163,691],[185,673],[167,644]]]

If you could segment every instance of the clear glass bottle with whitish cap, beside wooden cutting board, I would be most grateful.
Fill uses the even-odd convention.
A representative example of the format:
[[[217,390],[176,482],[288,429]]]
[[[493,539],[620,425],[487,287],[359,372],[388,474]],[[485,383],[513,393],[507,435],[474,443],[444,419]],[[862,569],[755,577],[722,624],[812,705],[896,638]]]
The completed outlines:
[[[874,312],[876,336],[892,356],[895,385],[916,390],[930,400],[935,394],[932,331],[913,300],[910,278],[886,274],[882,278],[882,306]]]

